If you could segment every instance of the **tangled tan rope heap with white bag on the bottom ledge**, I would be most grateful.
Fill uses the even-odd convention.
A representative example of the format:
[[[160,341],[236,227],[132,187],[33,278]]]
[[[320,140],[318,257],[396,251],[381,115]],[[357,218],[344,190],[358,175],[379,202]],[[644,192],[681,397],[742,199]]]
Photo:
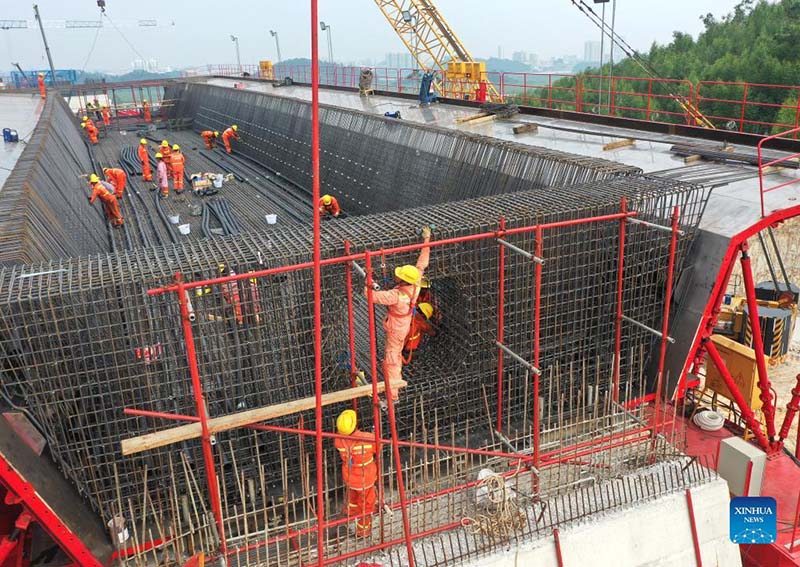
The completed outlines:
[[[520,467],[508,480],[517,476],[519,471]],[[525,514],[517,504],[514,491],[508,487],[507,479],[496,473],[491,473],[478,483],[478,494],[481,489],[486,490],[483,496],[490,503],[492,511],[477,514],[474,518],[465,516],[461,519],[461,525],[476,535],[509,539],[525,525]]]

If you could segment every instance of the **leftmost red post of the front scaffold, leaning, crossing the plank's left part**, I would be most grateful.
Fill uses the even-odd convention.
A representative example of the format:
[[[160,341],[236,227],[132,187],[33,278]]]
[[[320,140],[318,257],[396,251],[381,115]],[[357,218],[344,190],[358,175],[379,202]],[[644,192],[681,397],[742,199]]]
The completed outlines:
[[[222,518],[222,503],[219,499],[219,483],[217,481],[216,465],[214,464],[214,453],[211,449],[211,435],[208,432],[208,415],[206,413],[206,402],[203,396],[203,384],[200,381],[200,369],[197,365],[197,351],[194,346],[194,333],[192,331],[192,322],[190,319],[189,299],[180,274],[177,274],[177,278],[178,302],[181,307],[181,324],[183,326],[183,337],[186,340],[186,361],[189,363],[189,375],[192,378],[192,393],[194,394],[197,417],[200,418],[200,426],[203,431],[201,439],[203,445],[203,464],[206,470],[206,483],[208,484],[208,496],[211,500],[211,511],[217,522],[220,553],[225,557],[227,564],[226,552],[228,551],[228,544],[225,539],[225,522]]]

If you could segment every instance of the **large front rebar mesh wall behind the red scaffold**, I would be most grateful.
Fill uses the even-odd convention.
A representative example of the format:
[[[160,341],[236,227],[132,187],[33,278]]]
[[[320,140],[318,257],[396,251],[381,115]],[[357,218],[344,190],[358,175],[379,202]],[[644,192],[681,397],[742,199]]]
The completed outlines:
[[[705,203],[701,189],[645,177],[611,179],[554,191],[524,191],[411,209],[402,216],[380,214],[326,223],[323,253],[407,244],[415,229],[435,223],[439,238],[497,227],[501,216],[509,227],[617,212],[622,196],[643,218],[666,224],[674,205],[681,207],[683,257]],[[572,362],[589,372],[608,375],[613,342],[613,297],[616,274],[617,222],[553,230],[545,235],[547,260],[542,282],[542,345],[545,368]],[[513,238],[532,249],[530,236]],[[668,234],[629,227],[625,273],[626,314],[657,327],[661,318]],[[398,422],[401,435],[412,433],[413,406],[424,404],[444,427],[485,415],[483,396],[495,403],[497,243],[482,240],[435,249],[429,275],[443,313],[441,332],[406,371],[410,386],[403,393]],[[0,355],[8,395],[24,404],[42,424],[50,450],[65,474],[105,520],[118,510],[117,495],[141,493],[142,471],[148,471],[153,498],[171,480],[170,459],[186,455],[199,471],[196,441],[122,458],[123,438],[164,428],[163,420],[125,417],[123,408],[194,414],[178,304],[174,294],[149,297],[148,288],[169,283],[180,271],[186,279],[215,276],[219,265],[237,273],[260,267],[307,261],[310,232],[286,228],[266,234],[219,238],[163,249],[93,257],[0,272]],[[414,255],[386,259],[389,267]],[[331,266],[323,277],[324,389],[349,385],[347,310],[344,266]],[[381,280],[381,268],[376,266]],[[27,277],[38,272],[40,275]],[[360,283],[355,295],[362,308]],[[532,269],[509,258],[506,270],[506,342],[528,356],[532,333]],[[192,301],[203,387],[212,416],[270,405],[313,394],[312,285],[310,272],[259,278],[236,286],[241,315],[230,301],[233,288],[200,290]],[[382,313],[378,310],[378,322]],[[24,324],[19,324],[24,322]],[[364,350],[367,332],[357,321],[360,367],[369,367]],[[382,334],[382,332],[379,332]],[[624,330],[623,350],[648,346],[650,335]],[[623,376],[626,376],[627,357]],[[508,397],[527,407],[527,390],[514,381],[509,367]],[[560,384],[559,391],[569,391]],[[484,394],[486,392],[486,394]],[[548,392],[542,396],[548,399]],[[341,408],[328,408],[325,427]],[[362,402],[361,416],[369,425]],[[518,409],[518,413],[522,410]],[[518,416],[515,416],[515,419]],[[313,426],[313,416],[305,415]],[[282,423],[297,425],[297,417]],[[419,436],[419,432],[413,432]],[[279,436],[246,430],[219,435],[219,473],[230,490],[237,471],[268,467],[268,491],[281,491],[281,474],[300,480],[295,451],[282,453]],[[177,451],[176,451],[177,450]],[[283,459],[281,458],[283,455]],[[328,456],[335,463],[335,455]],[[285,459],[285,461],[284,461]],[[233,463],[238,463],[234,465]],[[199,474],[199,473],[198,473]],[[119,478],[119,489],[115,486]],[[302,487],[296,487],[297,492]],[[268,494],[260,495],[266,499]],[[158,502],[166,509],[169,502]]]

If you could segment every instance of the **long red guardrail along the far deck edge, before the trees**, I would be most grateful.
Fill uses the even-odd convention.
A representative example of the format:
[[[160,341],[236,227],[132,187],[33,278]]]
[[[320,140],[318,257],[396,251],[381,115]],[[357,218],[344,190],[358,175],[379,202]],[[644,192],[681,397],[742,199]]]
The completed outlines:
[[[320,82],[327,86],[358,88],[361,67],[324,66]],[[256,65],[209,65],[209,74],[241,77],[247,72],[261,77]],[[373,67],[375,90],[415,93],[421,71]],[[308,65],[275,65],[275,78],[311,82]],[[458,80],[439,73],[445,96],[464,94]],[[800,126],[800,86],[760,83],[700,81],[652,77],[601,77],[569,73],[487,72],[503,100],[523,106],[608,114],[648,122],[698,126],[700,115],[718,128],[767,135]],[[457,94],[456,94],[457,93]],[[699,114],[694,109],[699,111]],[[797,138],[797,136],[794,136]]]

